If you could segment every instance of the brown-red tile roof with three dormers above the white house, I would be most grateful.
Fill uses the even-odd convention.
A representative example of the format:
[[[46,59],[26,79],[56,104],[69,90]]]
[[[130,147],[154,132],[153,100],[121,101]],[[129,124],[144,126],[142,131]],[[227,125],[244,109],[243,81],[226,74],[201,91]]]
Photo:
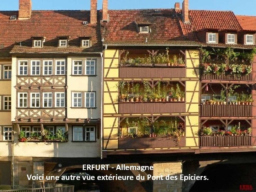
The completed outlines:
[[[11,15],[18,15],[18,11],[0,11],[0,57],[10,57],[9,52],[17,42],[22,42],[22,47],[15,48],[15,52],[27,49],[44,52],[46,48],[31,48],[33,36],[45,36],[44,45],[50,52],[64,50],[57,47],[57,36],[71,37],[70,47],[66,48],[69,52],[100,52],[102,49],[100,26],[82,25],[82,21],[90,21],[90,11],[32,11],[29,20],[14,21],[10,20]],[[92,47],[75,48],[80,46],[81,36],[92,37]]]

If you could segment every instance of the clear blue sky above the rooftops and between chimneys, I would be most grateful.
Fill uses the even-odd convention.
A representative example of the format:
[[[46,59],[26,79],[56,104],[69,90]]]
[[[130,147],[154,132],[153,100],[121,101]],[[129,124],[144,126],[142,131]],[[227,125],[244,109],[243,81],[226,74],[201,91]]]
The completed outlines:
[[[183,0],[108,0],[109,9],[173,8]],[[244,5],[241,5],[243,2]],[[256,16],[256,0],[190,0],[194,10],[231,10],[236,15]],[[98,0],[98,9],[102,0]],[[89,10],[90,0],[32,0],[33,10]],[[0,0],[0,10],[18,10],[18,0]]]

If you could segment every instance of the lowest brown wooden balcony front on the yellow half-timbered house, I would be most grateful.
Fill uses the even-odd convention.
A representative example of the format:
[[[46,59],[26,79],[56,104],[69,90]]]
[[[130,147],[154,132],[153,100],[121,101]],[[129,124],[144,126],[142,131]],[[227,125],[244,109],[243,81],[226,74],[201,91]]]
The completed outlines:
[[[118,139],[118,149],[167,148],[182,146],[185,146],[185,137],[181,137],[179,142],[173,138],[161,137]]]

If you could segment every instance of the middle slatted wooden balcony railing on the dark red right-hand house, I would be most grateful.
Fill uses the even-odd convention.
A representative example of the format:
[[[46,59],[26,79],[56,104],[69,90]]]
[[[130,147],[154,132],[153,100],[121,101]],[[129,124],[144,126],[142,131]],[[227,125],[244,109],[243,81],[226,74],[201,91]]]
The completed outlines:
[[[252,105],[200,105],[201,117],[251,117]]]

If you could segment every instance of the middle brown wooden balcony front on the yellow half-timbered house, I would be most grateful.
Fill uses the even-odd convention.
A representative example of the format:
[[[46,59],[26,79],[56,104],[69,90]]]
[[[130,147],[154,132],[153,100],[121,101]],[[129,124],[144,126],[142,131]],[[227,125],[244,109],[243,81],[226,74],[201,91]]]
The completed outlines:
[[[185,102],[121,102],[119,103],[120,114],[131,113],[183,113]]]

